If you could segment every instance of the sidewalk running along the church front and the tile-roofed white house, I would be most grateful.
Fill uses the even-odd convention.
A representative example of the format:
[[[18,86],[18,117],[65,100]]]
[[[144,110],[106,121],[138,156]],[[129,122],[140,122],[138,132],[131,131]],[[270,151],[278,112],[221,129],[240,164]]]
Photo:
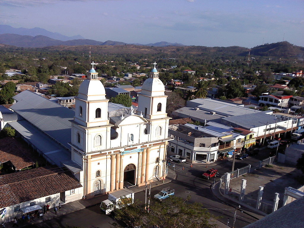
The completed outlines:
[[[157,187],[159,185],[168,184],[169,182],[171,182],[172,180],[175,180],[175,179],[176,179],[176,173],[174,173],[173,170],[168,169],[168,174],[167,174],[167,177],[166,177],[164,183],[162,180],[154,181],[151,183],[151,188]],[[132,189],[132,191],[134,193],[137,193],[137,192],[143,191],[145,189],[145,186],[134,187],[134,188],[130,188],[130,189]],[[59,208],[57,207],[58,208],[57,215],[55,215],[54,209],[50,208],[50,211],[48,213],[44,214],[42,217],[35,218],[34,220],[30,220],[29,222],[21,221],[21,219],[18,218],[18,226],[22,227],[22,226],[26,226],[29,224],[36,224],[36,223],[40,223],[45,220],[50,220],[57,216],[62,216],[62,215],[68,214],[68,213],[72,213],[72,212],[75,212],[78,210],[82,210],[82,209],[85,209],[85,208],[88,208],[91,206],[98,205],[105,199],[108,199],[108,195],[106,195],[106,194],[96,196],[91,199],[81,199],[81,200],[77,200],[77,201],[74,201],[71,203],[66,203],[66,204],[62,205],[61,211],[59,211]],[[6,228],[11,228],[13,226],[13,222],[6,223],[5,225],[6,225],[5,226]]]

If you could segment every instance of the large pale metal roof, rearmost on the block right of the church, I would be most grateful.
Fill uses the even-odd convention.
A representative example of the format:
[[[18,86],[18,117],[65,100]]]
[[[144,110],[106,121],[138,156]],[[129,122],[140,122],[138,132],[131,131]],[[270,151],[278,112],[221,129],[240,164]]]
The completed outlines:
[[[216,114],[222,116],[238,116],[260,112],[254,109],[245,108],[244,105],[237,105],[219,100],[202,98],[187,101],[187,106],[192,108],[199,107],[199,109],[202,109],[206,112],[216,112]]]

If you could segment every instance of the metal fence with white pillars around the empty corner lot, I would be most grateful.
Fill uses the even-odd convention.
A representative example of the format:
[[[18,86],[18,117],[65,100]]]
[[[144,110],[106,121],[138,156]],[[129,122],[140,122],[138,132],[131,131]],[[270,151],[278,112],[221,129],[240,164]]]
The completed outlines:
[[[263,198],[262,196],[263,196],[263,191],[264,191],[264,187],[262,187],[262,186],[259,186],[257,199],[254,199],[251,196],[245,195],[246,185],[247,185],[246,179],[242,179],[240,190],[229,187],[230,180],[232,180],[234,178],[238,178],[238,177],[242,176],[243,174],[250,173],[250,170],[252,168],[259,169],[266,165],[270,165],[270,164],[274,163],[274,161],[275,161],[275,156],[269,157],[269,158],[266,158],[266,159],[260,161],[256,166],[247,165],[243,168],[234,170],[233,172],[225,173],[225,175],[223,175],[219,180],[219,191],[226,198],[237,200],[240,203],[244,203],[245,205],[247,204],[247,206],[249,208],[251,208],[253,210],[258,210],[263,215],[267,215],[267,214],[270,214],[271,212],[276,211],[278,209],[278,202],[280,199],[279,193],[275,193],[274,203],[269,204],[269,203],[262,201],[262,198]]]

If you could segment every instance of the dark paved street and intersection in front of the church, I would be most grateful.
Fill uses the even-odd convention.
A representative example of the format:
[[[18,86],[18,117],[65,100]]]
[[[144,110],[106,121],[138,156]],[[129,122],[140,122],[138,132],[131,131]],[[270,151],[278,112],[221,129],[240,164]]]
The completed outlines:
[[[264,149],[257,157],[249,157],[243,161],[236,160],[235,168],[242,168],[247,164],[252,166],[257,165],[258,161],[269,157],[269,150]],[[174,164],[172,162],[172,164]],[[182,170],[184,166],[184,170]],[[216,168],[221,175],[231,171],[232,161],[224,161],[218,165],[212,166]],[[171,166],[169,168],[174,169]],[[190,202],[200,202],[204,207],[209,208],[209,212],[218,217],[218,220],[222,223],[227,223],[227,218],[230,219],[229,226],[233,225],[234,208],[227,206],[220,202],[216,197],[213,196],[210,186],[213,183],[212,180],[205,180],[202,178],[202,172],[211,168],[204,165],[193,165],[190,167],[189,164],[175,164],[175,172],[177,173],[177,179],[166,185],[161,185],[151,189],[151,195],[157,194],[162,188],[170,187],[175,189],[175,195],[182,198],[187,198],[191,195]],[[218,178],[217,178],[218,180]],[[139,192],[135,194],[135,199],[139,199],[144,202],[145,192]],[[153,199],[154,200],[154,199]],[[237,206],[237,205],[235,205]],[[251,216],[237,211],[237,221],[235,224],[236,228],[244,227],[256,219]],[[100,212],[99,206],[93,206],[87,209],[83,209],[77,212],[59,216],[57,218],[41,222],[30,227],[43,227],[43,228],[57,228],[65,226],[79,226],[82,228],[108,228],[109,223],[112,223],[111,217],[106,216]]]

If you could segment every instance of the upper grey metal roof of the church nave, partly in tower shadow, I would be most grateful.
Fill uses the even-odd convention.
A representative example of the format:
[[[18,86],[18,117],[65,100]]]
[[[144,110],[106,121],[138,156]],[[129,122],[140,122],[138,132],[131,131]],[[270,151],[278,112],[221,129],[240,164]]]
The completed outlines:
[[[68,150],[71,142],[71,122],[75,112],[27,90],[13,97],[11,106],[16,113],[38,129],[61,143]]]

